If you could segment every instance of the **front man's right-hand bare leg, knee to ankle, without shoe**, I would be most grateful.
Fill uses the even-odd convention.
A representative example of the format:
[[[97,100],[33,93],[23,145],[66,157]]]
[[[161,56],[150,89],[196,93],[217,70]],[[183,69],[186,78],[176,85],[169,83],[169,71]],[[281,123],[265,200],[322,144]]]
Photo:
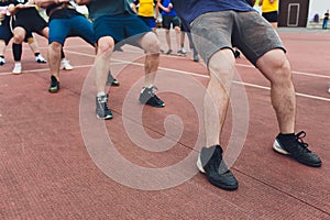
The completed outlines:
[[[261,73],[271,81],[272,105],[282,133],[294,133],[296,117],[296,95],[292,70],[282,50],[273,50],[256,63]]]

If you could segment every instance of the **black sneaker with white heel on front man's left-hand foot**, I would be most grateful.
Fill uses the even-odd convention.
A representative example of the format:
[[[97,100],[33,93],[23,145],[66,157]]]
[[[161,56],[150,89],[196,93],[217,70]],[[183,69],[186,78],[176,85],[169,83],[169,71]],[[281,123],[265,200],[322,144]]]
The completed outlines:
[[[197,167],[201,173],[206,174],[212,185],[226,190],[235,190],[239,188],[238,180],[222,160],[222,148],[220,145],[209,148],[202,147],[198,156]]]

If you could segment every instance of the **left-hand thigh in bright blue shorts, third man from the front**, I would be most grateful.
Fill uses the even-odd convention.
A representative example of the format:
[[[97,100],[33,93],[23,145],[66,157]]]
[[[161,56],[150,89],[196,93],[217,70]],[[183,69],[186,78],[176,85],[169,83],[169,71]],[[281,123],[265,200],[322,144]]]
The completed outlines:
[[[58,42],[62,45],[65,42],[69,31],[70,24],[67,19],[52,19],[50,21],[48,43]]]

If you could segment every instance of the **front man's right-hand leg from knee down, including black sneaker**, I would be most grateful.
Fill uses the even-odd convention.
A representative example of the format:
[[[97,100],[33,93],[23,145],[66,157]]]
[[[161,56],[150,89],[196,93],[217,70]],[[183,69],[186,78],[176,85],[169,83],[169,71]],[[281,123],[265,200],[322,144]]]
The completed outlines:
[[[296,95],[290,66],[284,52],[282,50],[267,52],[257,61],[256,66],[271,81],[271,99],[280,131],[273,148],[301,164],[320,167],[322,164],[320,157],[308,150],[308,144],[301,141],[306,133],[301,131],[295,134]]]

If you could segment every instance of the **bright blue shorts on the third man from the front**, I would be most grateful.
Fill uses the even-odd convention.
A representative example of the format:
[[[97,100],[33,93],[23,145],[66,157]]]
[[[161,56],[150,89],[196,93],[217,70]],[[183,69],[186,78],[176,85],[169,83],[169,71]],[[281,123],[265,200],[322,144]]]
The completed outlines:
[[[64,45],[66,37],[79,36],[90,45],[95,46],[96,36],[92,24],[82,15],[75,15],[69,19],[52,19],[48,25],[50,44],[58,42]]]

